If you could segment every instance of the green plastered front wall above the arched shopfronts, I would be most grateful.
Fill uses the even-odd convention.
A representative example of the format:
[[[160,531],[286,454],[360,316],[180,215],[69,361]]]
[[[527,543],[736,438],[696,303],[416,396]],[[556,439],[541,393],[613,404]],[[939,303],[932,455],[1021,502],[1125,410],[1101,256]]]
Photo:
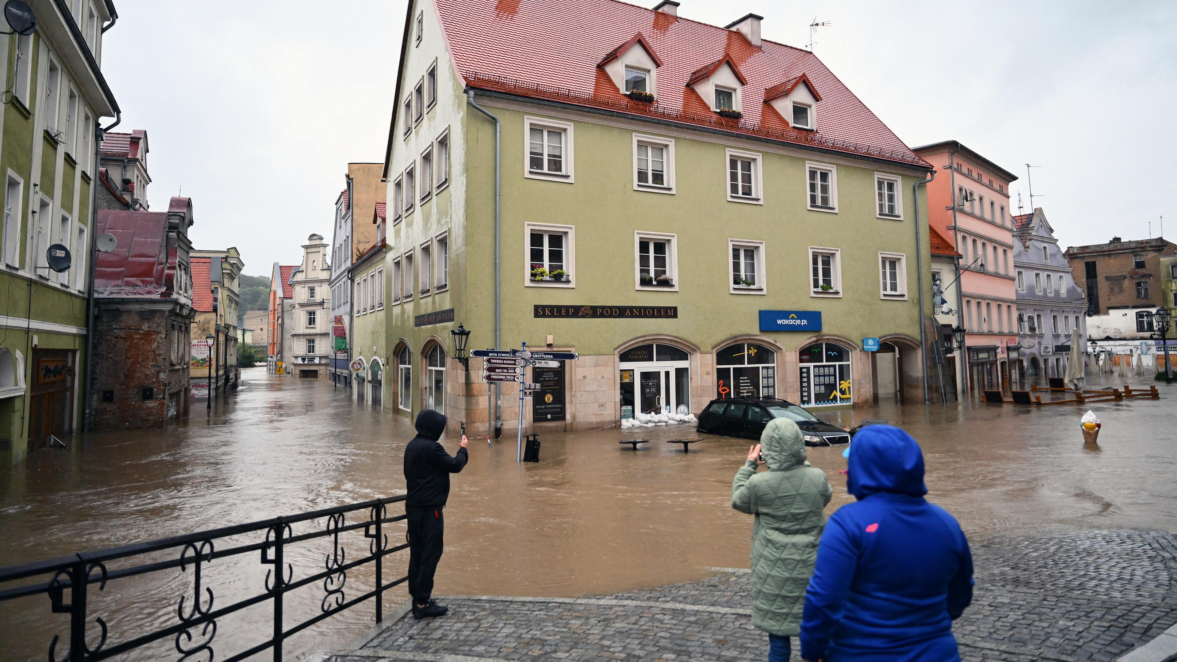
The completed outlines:
[[[541,345],[552,335],[556,345],[574,346],[581,355],[611,355],[630,339],[670,335],[710,352],[732,336],[759,333],[760,310],[819,310],[823,335],[856,345],[864,337],[919,337],[911,186],[923,172],[829,154],[779,153],[784,150],[737,138],[684,138],[659,126],[610,126],[592,118],[580,121],[579,115],[552,114],[546,108],[490,110],[503,121],[504,345],[518,346],[520,340]],[[561,121],[572,118],[573,184],[523,176],[525,114]],[[470,306],[465,318],[467,327],[480,331],[493,327],[494,132],[491,121],[474,113],[467,113],[466,128],[464,265]],[[676,194],[633,190],[636,132],[674,138]],[[726,148],[763,154],[765,204],[727,201]],[[806,160],[837,165],[838,213],[806,210]],[[876,218],[876,172],[903,176],[904,220]],[[919,198],[923,205],[923,188]],[[576,226],[574,289],[524,286],[526,221]],[[678,292],[636,290],[634,231],[677,234]],[[765,243],[766,294],[729,293],[729,239]],[[922,244],[926,269],[926,231]],[[842,250],[842,298],[810,296],[810,246]],[[879,251],[906,256],[907,300],[880,298]],[[678,306],[678,318],[534,319],[536,304]],[[812,338],[797,332],[766,335],[787,350]],[[474,342],[472,336],[471,346],[485,343]]]

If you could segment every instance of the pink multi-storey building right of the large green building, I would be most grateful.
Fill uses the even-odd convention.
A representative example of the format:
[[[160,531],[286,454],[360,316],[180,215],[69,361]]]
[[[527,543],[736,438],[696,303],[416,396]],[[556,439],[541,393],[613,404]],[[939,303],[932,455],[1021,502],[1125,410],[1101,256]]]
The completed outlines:
[[[1017,179],[956,140],[915,150],[936,167],[927,185],[929,224],[963,257],[957,273],[956,326],[965,351],[953,347],[959,392],[1018,389],[1017,280],[1010,183]],[[943,316],[942,316],[943,317]]]

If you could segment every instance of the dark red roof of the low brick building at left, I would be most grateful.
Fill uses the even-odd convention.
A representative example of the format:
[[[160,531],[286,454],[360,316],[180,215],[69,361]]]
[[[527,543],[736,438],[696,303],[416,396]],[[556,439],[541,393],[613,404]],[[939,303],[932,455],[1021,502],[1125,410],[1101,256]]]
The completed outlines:
[[[98,234],[114,236],[115,249],[98,253],[94,293],[99,297],[166,297],[167,214],[98,210]]]

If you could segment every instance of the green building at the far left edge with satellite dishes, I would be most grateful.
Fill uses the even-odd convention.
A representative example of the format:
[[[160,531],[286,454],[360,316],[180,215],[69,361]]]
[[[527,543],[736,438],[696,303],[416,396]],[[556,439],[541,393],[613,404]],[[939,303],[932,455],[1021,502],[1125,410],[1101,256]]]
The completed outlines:
[[[4,37],[0,48],[11,90],[0,130],[0,457],[8,462],[81,429],[99,118],[119,112],[99,69],[114,6],[28,5],[35,29]],[[71,256],[61,272],[47,258],[58,244]]]

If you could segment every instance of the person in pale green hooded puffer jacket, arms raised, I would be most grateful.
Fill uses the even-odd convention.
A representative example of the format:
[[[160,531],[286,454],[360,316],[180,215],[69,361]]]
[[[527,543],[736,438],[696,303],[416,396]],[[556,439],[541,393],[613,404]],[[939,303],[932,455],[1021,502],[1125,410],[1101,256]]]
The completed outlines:
[[[757,472],[763,455],[767,471]],[[789,660],[800,634],[805,587],[813,574],[833,489],[805,459],[797,423],[773,418],[732,481],[732,508],[752,523],[752,624],[769,633],[769,662]]]

